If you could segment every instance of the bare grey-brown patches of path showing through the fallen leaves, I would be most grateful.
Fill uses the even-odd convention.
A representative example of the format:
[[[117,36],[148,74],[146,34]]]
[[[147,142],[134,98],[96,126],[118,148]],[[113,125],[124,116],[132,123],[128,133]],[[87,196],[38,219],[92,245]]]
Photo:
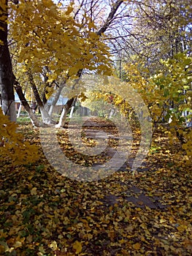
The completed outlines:
[[[77,127],[76,127],[77,128]],[[75,130],[75,127],[74,127]],[[115,152],[117,151],[116,149],[116,144],[119,141],[118,137],[118,131],[115,128],[115,125],[112,124],[111,121],[106,121],[101,118],[89,118],[88,121],[85,121],[83,124],[83,137],[86,138],[87,140],[94,140],[94,139],[110,139],[110,146],[107,147],[107,150],[104,151],[104,157],[106,159],[111,159]],[[100,134],[99,131],[104,131],[107,133],[106,134]],[[76,131],[77,132],[77,131]],[[125,136],[125,139],[128,140],[128,136]],[[115,146],[114,146],[115,145]],[[127,161],[123,164],[120,165],[118,171],[128,171],[131,170],[131,166],[134,162],[134,156],[136,154],[136,151],[138,149],[139,145],[139,140],[134,141],[134,148],[132,148],[132,152],[130,156],[128,157]],[[123,145],[124,146],[124,145]],[[122,149],[123,150],[123,149]],[[117,164],[117,162],[116,162]],[[93,164],[96,166],[96,164]],[[147,167],[147,162],[143,162],[141,167],[137,169],[138,172],[144,172],[149,170]],[[139,186],[129,186],[127,187],[126,183],[121,182],[121,186],[126,186],[126,192],[124,193],[123,197],[121,195],[112,195],[108,194],[104,197],[102,202],[104,202],[107,206],[113,206],[115,203],[120,204],[120,201],[124,200],[124,202],[131,203],[133,207],[139,207],[139,208],[145,208],[146,206],[149,208],[160,208],[164,209],[166,208],[165,205],[162,205],[160,200],[160,197],[148,197],[145,195],[145,190],[140,188]]]

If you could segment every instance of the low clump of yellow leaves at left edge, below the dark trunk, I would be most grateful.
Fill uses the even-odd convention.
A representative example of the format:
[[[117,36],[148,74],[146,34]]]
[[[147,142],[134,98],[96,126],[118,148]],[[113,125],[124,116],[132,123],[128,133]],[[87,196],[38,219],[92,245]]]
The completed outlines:
[[[38,157],[38,148],[28,141],[23,141],[23,135],[17,132],[18,124],[9,121],[0,109],[0,161],[12,162],[12,165],[35,162]]]

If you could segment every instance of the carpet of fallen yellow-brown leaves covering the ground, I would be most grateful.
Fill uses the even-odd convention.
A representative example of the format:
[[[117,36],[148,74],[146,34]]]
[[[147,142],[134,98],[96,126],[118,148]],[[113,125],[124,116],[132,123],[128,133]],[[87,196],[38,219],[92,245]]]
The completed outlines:
[[[110,148],[117,148],[117,131]],[[177,140],[159,127],[147,159],[133,175],[125,165],[107,178],[82,182],[62,176],[45,158],[39,130],[20,124],[26,140],[39,145],[39,162],[1,166],[0,255],[192,255],[191,167]],[[138,134],[138,135],[137,135]],[[82,140],[96,146],[82,129]],[[91,137],[92,136],[92,137]],[[134,132],[130,159],[138,148]],[[137,138],[138,137],[138,138]],[[79,165],[102,164],[112,155],[82,157],[58,131],[66,156]],[[70,170],[69,170],[70,171]]]

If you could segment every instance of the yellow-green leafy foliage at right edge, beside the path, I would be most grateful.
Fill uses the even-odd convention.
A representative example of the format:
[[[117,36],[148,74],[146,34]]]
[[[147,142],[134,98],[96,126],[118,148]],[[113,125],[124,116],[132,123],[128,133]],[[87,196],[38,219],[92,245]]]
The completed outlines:
[[[183,138],[183,149],[189,159],[192,158],[192,132],[183,130],[183,111],[192,110],[191,102],[191,66],[192,58],[186,53],[178,53],[174,59],[161,61],[164,70],[145,80],[139,70],[143,69],[138,64],[126,64],[123,68],[126,71],[126,80],[131,83],[144,99],[148,106],[154,122],[158,122],[164,116],[165,121],[172,118],[169,124],[170,143],[174,143],[176,134]],[[139,68],[138,68],[139,67]],[[145,72],[143,72],[145,74]],[[170,102],[174,108],[170,110]],[[117,103],[116,103],[117,104]],[[191,116],[188,115],[188,121]],[[184,124],[185,125],[185,124]]]

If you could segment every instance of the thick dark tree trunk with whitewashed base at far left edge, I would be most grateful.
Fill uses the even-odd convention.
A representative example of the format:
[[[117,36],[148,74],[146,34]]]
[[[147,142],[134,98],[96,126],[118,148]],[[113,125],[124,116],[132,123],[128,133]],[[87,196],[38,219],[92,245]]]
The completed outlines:
[[[15,96],[13,90],[12,62],[7,43],[7,0],[0,4],[0,87],[1,103],[4,115],[16,121]]]

